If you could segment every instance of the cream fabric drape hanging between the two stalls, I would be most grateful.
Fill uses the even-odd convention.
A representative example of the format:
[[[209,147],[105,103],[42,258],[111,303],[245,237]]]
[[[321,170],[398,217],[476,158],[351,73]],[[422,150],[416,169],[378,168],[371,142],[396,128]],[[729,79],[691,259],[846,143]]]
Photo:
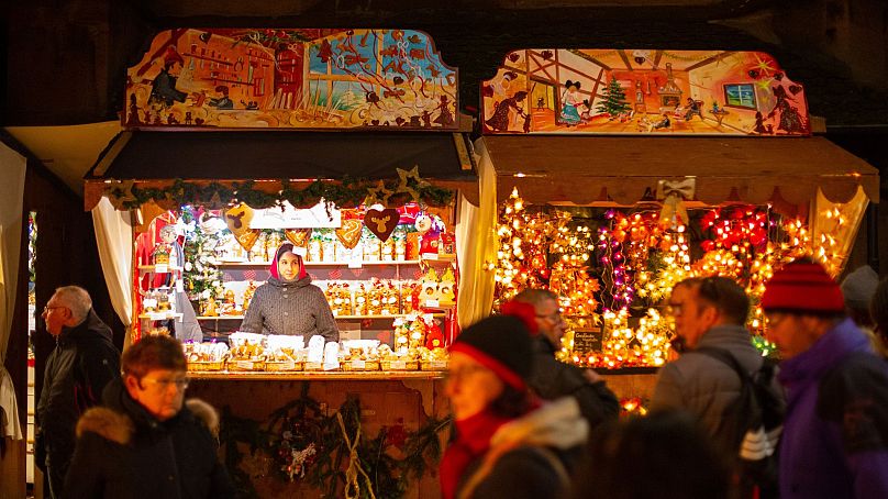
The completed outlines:
[[[456,315],[459,328],[484,319],[493,307],[493,273],[486,262],[497,257],[497,173],[485,151],[484,141],[475,142],[478,162],[479,207],[459,196],[456,222],[456,253],[459,260],[459,293]]]

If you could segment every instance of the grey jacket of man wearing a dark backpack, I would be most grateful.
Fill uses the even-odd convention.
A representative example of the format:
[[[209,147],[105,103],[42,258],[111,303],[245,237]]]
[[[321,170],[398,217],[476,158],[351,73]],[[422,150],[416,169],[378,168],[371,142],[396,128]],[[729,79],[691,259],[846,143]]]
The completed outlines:
[[[750,333],[741,325],[718,325],[703,334],[698,347],[715,347],[731,352],[750,373],[762,367],[762,355],[752,344]],[[651,409],[682,409],[698,418],[703,429],[722,448],[730,448],[725,409],[740,397],[740,378],[721,361],[704,354],[687,352],[659,370]],[[775,392],[782,389],[774,378]]]

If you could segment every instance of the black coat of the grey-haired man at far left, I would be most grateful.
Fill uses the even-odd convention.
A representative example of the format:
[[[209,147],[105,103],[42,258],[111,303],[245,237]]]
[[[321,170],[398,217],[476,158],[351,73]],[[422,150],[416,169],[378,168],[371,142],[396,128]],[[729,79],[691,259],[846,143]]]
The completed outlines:
[[[111,343],[111,329],[91,309],[80,324],[63,328],[56,342],[37,403],[35,461],[43,467],[48,454],[54,466],[64,468],[74,454],[77,420],[99,404],[109,381],[120,378],[120,351]]]

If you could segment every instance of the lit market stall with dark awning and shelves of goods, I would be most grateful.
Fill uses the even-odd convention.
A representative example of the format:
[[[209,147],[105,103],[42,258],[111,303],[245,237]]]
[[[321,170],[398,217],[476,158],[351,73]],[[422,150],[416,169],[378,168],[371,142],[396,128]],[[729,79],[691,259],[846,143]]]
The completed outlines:
[[[130,341],[186,343],[245,495],[437,494],[445,346],[474,284],[457,88],[411,30],[171,30],[129,69],[86,208]],[[287,242],[338,341],[243,331]]]

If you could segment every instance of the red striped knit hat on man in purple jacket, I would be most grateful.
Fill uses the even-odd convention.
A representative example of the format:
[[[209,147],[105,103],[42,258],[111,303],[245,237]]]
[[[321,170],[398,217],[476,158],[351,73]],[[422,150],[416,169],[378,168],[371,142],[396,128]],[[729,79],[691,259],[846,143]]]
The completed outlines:
[[[765,285],[762,308],[804,312],[843,312],[839,284],[818,263],[796,260],[774,273]]]

